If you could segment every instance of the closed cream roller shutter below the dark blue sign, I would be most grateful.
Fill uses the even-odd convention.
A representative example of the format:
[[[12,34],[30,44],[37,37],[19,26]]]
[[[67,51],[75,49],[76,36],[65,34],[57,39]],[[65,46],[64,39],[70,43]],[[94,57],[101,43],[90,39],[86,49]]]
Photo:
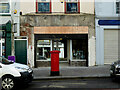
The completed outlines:
[[[118,31],[104,30],[104,64],[118,60]]]

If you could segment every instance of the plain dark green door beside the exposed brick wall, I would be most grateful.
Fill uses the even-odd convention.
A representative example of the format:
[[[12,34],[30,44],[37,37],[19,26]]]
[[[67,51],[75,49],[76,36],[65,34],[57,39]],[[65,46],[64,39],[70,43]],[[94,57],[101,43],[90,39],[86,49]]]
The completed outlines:
[[[15,40],[16,62],[27,64],[27,40]]]

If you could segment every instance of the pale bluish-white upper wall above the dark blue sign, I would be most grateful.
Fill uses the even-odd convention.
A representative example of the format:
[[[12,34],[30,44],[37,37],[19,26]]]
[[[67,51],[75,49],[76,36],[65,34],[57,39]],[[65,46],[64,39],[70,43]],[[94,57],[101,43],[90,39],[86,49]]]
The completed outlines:
[[[95,0],[96,17],[118,17],[116,0]]]

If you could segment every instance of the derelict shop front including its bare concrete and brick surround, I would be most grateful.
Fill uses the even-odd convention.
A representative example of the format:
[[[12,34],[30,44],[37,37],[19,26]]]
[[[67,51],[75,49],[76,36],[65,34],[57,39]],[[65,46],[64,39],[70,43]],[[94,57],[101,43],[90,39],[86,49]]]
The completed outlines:
[[[27,58],[31,67],[50,66],[53,50],[60,51],[60,66],[96,64],[94,15],[24,15],[20,34],[28,37]]]

